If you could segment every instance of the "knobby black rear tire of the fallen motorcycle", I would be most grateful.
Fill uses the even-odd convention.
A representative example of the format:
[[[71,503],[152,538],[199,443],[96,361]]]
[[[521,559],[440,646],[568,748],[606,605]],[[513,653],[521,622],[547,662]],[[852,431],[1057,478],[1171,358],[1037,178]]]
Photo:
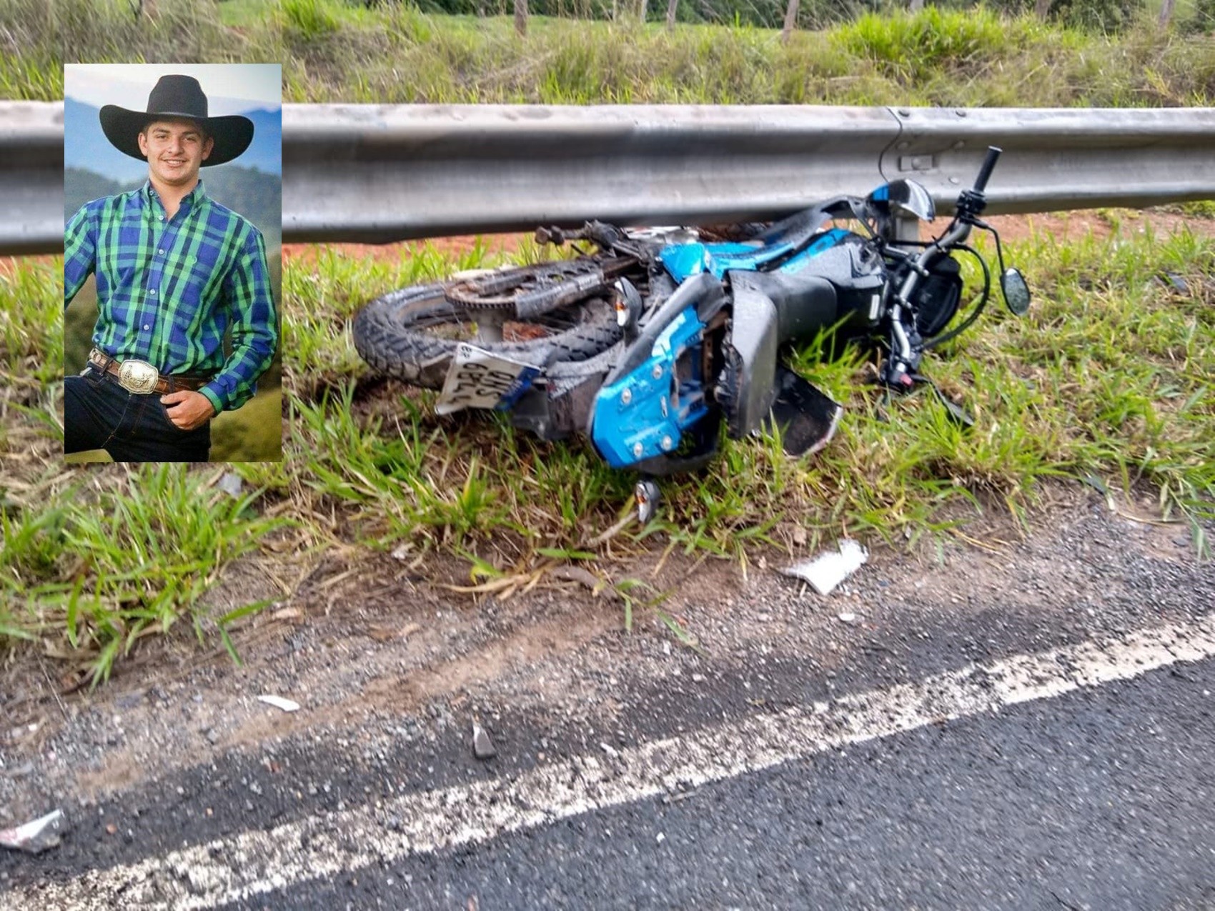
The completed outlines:
[[[586,298],[541,317],[520,321],[452,305],[447,283],[390,292],[355,316],[355,349],[372,367],[424,389],[442,389],[462,341],[513,360],[548,367],[594,357],[621,336],[616,310]],[[487,333],[479,318],[499,319]]]

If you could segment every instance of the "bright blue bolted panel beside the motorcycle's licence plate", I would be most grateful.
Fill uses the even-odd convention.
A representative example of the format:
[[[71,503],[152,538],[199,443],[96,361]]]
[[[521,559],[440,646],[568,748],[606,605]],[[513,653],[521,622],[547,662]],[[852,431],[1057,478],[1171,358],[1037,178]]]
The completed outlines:
[[[599,390],[590,438],[609,465],[627,468],[674,452],[683,431],[708,413],[700,364],[703,332],[696,307],[684,309],[655,339],[648,360]]]

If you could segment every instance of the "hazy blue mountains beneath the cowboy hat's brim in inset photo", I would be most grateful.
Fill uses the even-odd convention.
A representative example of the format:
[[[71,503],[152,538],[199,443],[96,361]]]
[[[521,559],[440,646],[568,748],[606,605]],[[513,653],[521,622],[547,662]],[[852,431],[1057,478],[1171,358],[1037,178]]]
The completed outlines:
[[[130,107],[139,109],[134,104]],[[106,134],[101,131],[100,113],[101,108],[92,104],[75,98],[63,100],[63,166],[86,169],[111,180],[134,177],[142,181],[147,177],[147,164],[130,155],[124,155],[109,145]],[[258,109],[242,111],[241,113],[253,120],[253,143],[236,160],[243,168],[255,168],[267,174],[282,175],[282,111]],[[202,172],[205,179],[214,170],[230,166],[230,164],[221,164],[216,169],[203,168]],[[208,186],[210,185],[208,183]]]

